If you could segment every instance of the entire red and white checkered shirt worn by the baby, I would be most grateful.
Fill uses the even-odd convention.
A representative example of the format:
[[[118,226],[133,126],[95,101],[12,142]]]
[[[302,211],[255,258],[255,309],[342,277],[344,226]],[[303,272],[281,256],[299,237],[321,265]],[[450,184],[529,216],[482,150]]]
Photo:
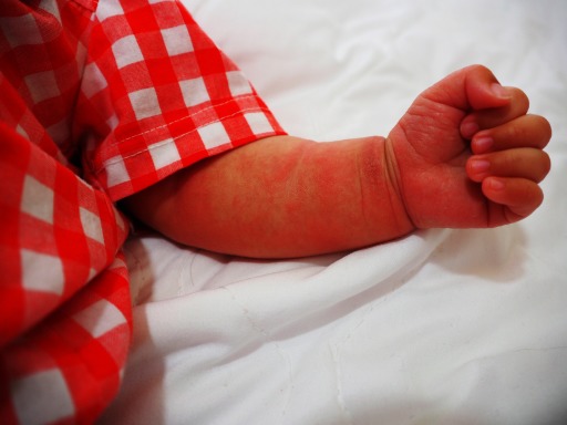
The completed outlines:
[[[176,0],[2,0],[0,29],[0,423],[90,423],[132,330],[113,203],[284,132]]]

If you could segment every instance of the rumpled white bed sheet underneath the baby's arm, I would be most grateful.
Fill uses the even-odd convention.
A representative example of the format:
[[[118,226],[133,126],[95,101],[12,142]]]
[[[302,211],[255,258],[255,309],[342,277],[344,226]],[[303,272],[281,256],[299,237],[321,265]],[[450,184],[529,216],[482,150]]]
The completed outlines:
[[[185,0],[284,127],[388,134],[471,63],[554,128],[520,224],[256,261],[127,243],[134,344],[116,424],[567,423],[567,2]]]

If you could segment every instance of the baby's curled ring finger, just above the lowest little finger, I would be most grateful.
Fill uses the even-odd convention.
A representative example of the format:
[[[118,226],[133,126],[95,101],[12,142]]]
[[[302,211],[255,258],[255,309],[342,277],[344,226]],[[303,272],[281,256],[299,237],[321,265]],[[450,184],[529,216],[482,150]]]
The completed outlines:
[[[539,183],[547,176],[550,166],[549,156],[544,151],[519,147],[473,155],[466,163],[466,173],[473,182],[483,182],[495,176],[520,177]]]

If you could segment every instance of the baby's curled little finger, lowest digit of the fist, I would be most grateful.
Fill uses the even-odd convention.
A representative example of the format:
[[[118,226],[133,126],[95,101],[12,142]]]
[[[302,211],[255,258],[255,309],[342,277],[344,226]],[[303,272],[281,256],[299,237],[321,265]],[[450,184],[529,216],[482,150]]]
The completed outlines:
[[[488,177],[482,185],[483,194],[493,203],[506,208],[497,217],[492,215],[491,226],[518,221],[542,205],[544,193],[539,186],[525,178]]]

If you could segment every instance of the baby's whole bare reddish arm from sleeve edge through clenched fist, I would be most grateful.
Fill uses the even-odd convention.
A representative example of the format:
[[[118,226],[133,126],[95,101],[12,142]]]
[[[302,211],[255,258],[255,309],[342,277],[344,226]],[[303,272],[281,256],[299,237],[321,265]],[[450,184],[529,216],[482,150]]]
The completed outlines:
[[[388,138],[266,138],[124,205],[179,242],[265,258],[359,248],[414,228],[501,226],[537,208],[549,170],[549,124],[526,112],[523,92],[470,66],[422,93]]]

